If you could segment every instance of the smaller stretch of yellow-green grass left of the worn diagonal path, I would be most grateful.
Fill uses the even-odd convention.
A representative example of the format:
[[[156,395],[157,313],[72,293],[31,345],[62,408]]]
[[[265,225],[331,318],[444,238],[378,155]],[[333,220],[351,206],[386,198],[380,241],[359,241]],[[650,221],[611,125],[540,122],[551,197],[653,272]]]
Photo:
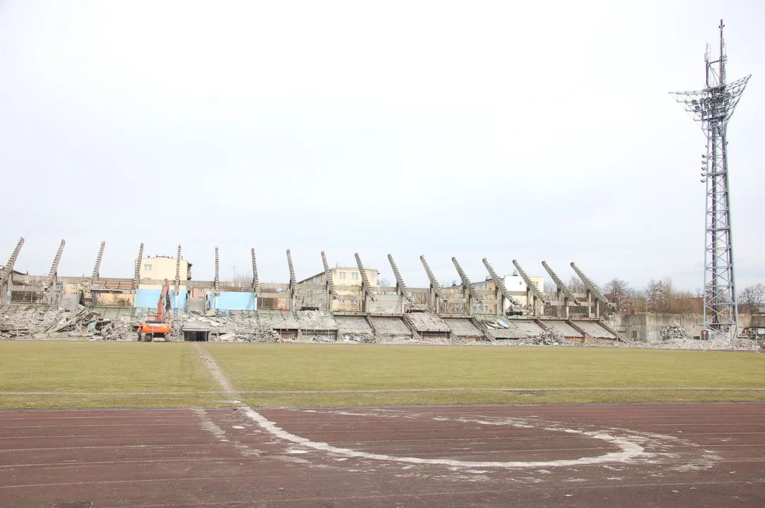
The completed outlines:
[[[213,390],[190,344],[0,342],[0,409],[199,405]]]

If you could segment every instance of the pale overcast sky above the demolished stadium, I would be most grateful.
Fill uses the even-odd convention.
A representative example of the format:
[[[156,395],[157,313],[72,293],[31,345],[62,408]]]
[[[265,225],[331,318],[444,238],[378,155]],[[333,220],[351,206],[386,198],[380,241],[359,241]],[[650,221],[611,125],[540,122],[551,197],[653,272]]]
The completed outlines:
[[[409,286],[487,257],[568,280],[703,285],[704,86],[724,18],[737,282],[765,279],[765,5],[583,2],[0,2],[0,263],[132,277],[138,244],[197,280],[331,265]]]

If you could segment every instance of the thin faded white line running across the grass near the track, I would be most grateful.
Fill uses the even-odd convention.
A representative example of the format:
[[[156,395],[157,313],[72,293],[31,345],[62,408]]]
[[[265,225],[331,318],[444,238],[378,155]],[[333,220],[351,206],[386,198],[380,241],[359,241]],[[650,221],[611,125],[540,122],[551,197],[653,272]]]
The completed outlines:
[[[223,373],[220,373],[221,375]],[[225,379],[225,377],[224,377]],[[217,380],[217,379],[216,379]],[[226,380],[227,381],[227,380]],[[0,395],[102,395],[102,396],[130,396],[130,395],[226,395],[226,394],[253,394],[253,395],[278,395],[290,393],[417,393],[417,392],[591,392],[591,391],[609,391],[609,392],[635,392],[635,391],[709,391],[709,392],[765,392],[765,388],[752,387],[554,387],[554,388],[475,388],[475,387],[457,387],[457,388],[382,388],[382,389],[358,389],[358,390],[200,390],[188,392],[19,392],[19,391],[0,391]]]

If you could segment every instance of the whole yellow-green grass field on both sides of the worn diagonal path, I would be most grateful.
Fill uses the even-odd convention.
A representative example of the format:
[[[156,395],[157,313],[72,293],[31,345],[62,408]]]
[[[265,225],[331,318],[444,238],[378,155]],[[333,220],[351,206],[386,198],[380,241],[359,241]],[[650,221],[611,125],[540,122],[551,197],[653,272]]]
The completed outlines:
[[[765,354],[207,344],[251,406],[765,400]],[[0,341],[0,409],[226,406],[194,345]]]

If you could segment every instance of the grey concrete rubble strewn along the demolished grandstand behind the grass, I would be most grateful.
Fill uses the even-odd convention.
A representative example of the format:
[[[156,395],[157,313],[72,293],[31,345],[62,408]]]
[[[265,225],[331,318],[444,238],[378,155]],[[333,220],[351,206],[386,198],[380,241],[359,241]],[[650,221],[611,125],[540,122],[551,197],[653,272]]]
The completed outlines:
[[[127,312],[123,312],[127,311]],[[70,339],[135,341],[135,328],[145,315],[145,309],[115,309],[108,307],[85,307],[77,305],[73,310],[57,306],[37,304],[0,306],[0,340],[45,340]],[[337,315],[317,310],[305,311],[260,311],[220,312],[207,316],[207,312],[181,312],[174,314],[173,334],[168,341],[184,340],[184,325],[209,329],[210,341],[227,342],[300,342],[300,343],[343,343],[343,344],[390,344],[390,345],[488,345],[514,346],[539,345],[571,347],[620,347],[620,348],[661,348],[695,350],[755,350],[757,341],[736,338],[726,341],[715,337],[700,341],[689,337],[681,325],[667,325],[660,333],[661,340],[653,343],[609,341],[604,344],[571,344],[555,330],[542,328],[526,319],[493,318],[481,319],[495,338],[501,341],[466,341],[454,332],[448,338],[425,333],[415,334],[399,316]],[[415,317],[426,323],[424,328],[434,328],[440,318]],[[444,324],[457,323],[448,321]],[[587,324],[596,325],[595,322]],[[282,334],[285,338],[282,338]],[[289,338],[287,338],[289,337]]]

